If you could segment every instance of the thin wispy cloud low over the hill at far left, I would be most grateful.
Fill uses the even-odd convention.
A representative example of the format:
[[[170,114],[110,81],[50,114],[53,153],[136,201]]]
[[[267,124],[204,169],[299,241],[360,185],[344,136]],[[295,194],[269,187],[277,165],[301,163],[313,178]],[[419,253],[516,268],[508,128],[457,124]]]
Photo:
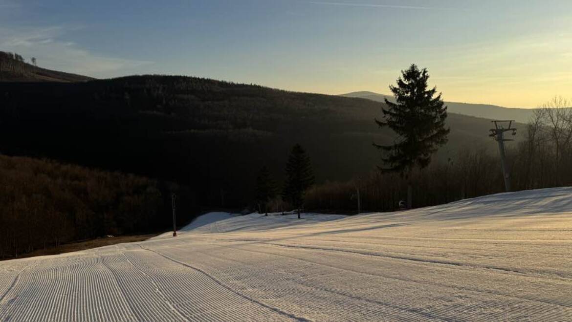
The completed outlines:
[[[0,2],[0,6],[4,2]],[[108,57],[82,48],[65,39],[61,26],[37,28],[0,27],[0,50],[14,51],[26,59],[36,57],[38,65],[92,77],[109,77],[137,73],[150,61]]]

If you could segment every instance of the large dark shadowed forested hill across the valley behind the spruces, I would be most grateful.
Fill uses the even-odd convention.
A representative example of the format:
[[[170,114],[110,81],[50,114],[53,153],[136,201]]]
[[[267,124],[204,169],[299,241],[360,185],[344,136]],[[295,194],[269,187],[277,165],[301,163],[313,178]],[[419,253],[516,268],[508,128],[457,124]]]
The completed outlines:
[[[193,77],[132,76],[81,83],[0,84],[0,152],[56,158],[188,184],[197,203],[243,206],[256,172],[281,181],[289,149],[308,151],[316,181],[379,164],[372,142],[382,105]],[[490,121],[450,114],[449,143],[494,151]]]

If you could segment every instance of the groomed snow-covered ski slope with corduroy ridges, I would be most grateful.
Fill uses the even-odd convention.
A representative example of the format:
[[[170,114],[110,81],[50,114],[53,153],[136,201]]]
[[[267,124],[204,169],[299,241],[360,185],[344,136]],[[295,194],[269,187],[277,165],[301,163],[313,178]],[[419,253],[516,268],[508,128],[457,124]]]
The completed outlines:
[[[572,188],[303,217],[2,261],[0,321],[572,320]]]

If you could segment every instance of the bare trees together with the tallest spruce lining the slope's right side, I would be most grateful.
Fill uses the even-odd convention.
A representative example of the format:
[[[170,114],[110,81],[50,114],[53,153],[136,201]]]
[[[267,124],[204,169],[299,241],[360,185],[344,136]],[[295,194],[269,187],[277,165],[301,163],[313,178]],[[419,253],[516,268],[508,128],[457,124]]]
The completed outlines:
[[[431,162],[447,142],[446,106],[428,89],[426,69],[411,65],[397,86],[390,86],[396,103],[386,100],[381,127],[396,133],[394,144],[379,145],[381,164],[369,174],[348,181],[326,181],[301,189],[297,208],[319,212],[392,211],[443,204],[463,198],[503,192],[503,171],[497,153],[484,146],[459,149],[447,160]],[[508,144],[508,168],[514,190],[572,185],[572,108],[561,97],[534,111],[521,129],[525,138]],[[484,135],[485,133],[483,133]],[[494,141],[490,145],[495,146]],[[288,173],[288,171],[287,171]],[[264,171],[262,178],[268,177]],[[258,182],[267,182],[260,180]],[[268,197],[267,185],[257,184],[257,201],[276,210],[283,200]],[[262,191],[263,193],[260,193]],[[272,194],[274,196],[274,194]],[[404,207],[403,200],[407,199]],[[291,204],[286,204],[291,205]]]

